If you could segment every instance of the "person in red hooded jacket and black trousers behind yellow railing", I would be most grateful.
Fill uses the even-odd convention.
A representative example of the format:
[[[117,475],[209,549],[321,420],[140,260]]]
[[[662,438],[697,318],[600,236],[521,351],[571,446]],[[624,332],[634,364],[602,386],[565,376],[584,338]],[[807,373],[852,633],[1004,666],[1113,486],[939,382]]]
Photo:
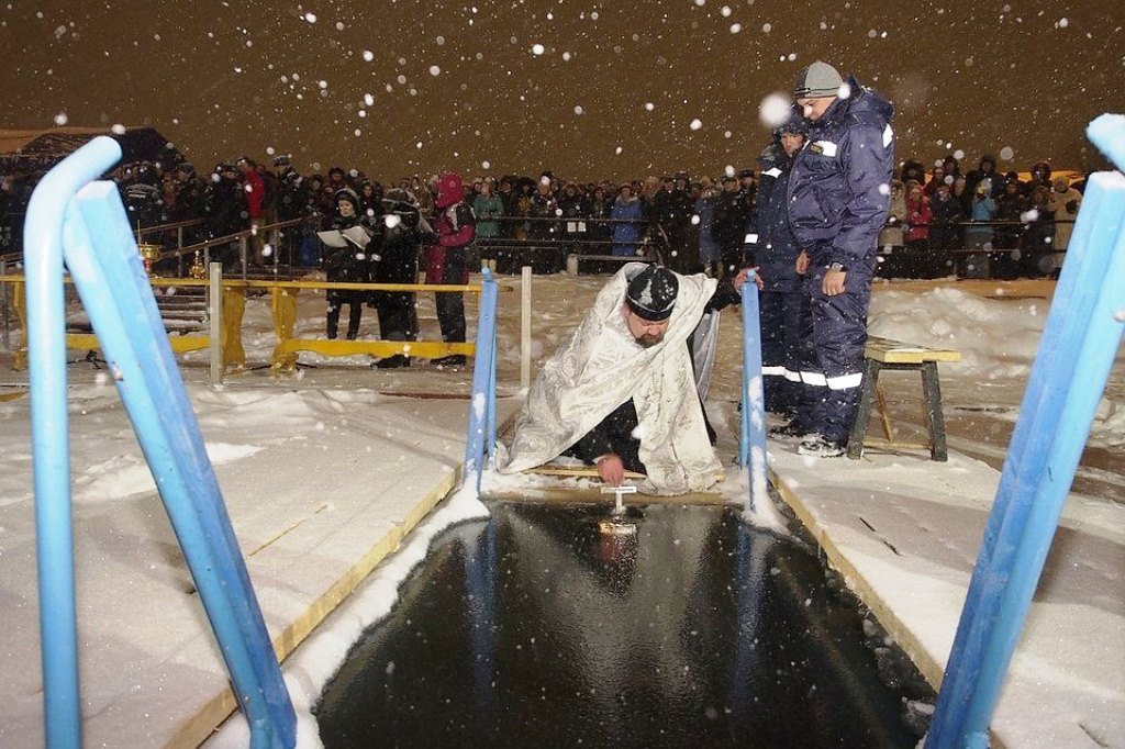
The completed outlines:
[[[434,232],[438,242],[430,245],[425,256],[425,282],[428,285],[469,282],[468,249],[476,238],[476,220],[472,209],[465,202],[465,190],[458,174],[447,173],[438,179],[438,214]],[[447,343],[465,343],[465,297],[460,291],[434,294],[438,303],[438,323],[441,340]],[[451,354],[435,359],[439,367],[459,367],[466,362],[465,354]]]

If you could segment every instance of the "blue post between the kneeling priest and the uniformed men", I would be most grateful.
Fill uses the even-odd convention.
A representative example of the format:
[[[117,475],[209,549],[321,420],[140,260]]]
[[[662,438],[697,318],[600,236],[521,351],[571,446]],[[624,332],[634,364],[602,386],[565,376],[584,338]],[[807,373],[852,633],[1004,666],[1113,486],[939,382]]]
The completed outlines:
[[[742,285],[742,419],[738,461],[750,480],[747,509],[766,500],[766,412],[762,386],[762,323],[756,274],[748,271]]]

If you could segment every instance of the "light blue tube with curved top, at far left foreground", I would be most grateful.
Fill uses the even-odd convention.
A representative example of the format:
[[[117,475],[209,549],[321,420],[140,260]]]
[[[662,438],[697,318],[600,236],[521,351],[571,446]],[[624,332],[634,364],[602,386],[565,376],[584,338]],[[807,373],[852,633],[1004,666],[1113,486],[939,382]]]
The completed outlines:
[[[24,232],[43,706],[46,745],[52,749],[79,747],[82,741],[70,419],[66,415],[62,216],[71,210],[71,197],[109,170],[120,156],[116,141],[97,138],[63,160],[44,175],[32,193]]]

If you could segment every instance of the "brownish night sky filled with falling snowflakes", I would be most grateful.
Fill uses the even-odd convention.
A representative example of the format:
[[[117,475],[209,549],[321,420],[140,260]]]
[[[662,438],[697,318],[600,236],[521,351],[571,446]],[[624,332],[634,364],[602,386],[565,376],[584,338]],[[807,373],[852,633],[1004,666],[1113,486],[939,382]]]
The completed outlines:
[[[0,7],[0,128],[155,126],[200,171],[292,154],[377,179],[753,165],[822,58],[890,98],[898,159],[1105,168],[1122,0],[122,2]]]

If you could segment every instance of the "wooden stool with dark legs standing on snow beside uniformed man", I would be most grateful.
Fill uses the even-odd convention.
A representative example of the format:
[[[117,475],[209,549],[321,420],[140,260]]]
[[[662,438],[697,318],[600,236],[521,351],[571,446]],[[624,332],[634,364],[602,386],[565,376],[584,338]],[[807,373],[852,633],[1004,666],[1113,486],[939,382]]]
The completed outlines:
[[[868,337],[863,355],[865,360],[863,394],[860,396],[860,408],[856,412],[852,434],[848,437],[847,457],[858,460],[863,457],[864,445],[867,445],[871,448],[928,449],[933,460],[948,460],[948,451],[945,446],[945,417],[942,414],[942,388],[937,381],[937,362],[961,361],[961,352],[952,349],[916,346],[890,339]],[[926,428],[929,431],[928,444],[894,441],[891,419],[886,415],[886,405],[883,401],[882,390],[879,388],[879,373],[884,369],[921,372],[921,388],[926,400],[924,416]],[[878,400],[886,439],[867,437],[867,423],[871,421],[873,400]]]

